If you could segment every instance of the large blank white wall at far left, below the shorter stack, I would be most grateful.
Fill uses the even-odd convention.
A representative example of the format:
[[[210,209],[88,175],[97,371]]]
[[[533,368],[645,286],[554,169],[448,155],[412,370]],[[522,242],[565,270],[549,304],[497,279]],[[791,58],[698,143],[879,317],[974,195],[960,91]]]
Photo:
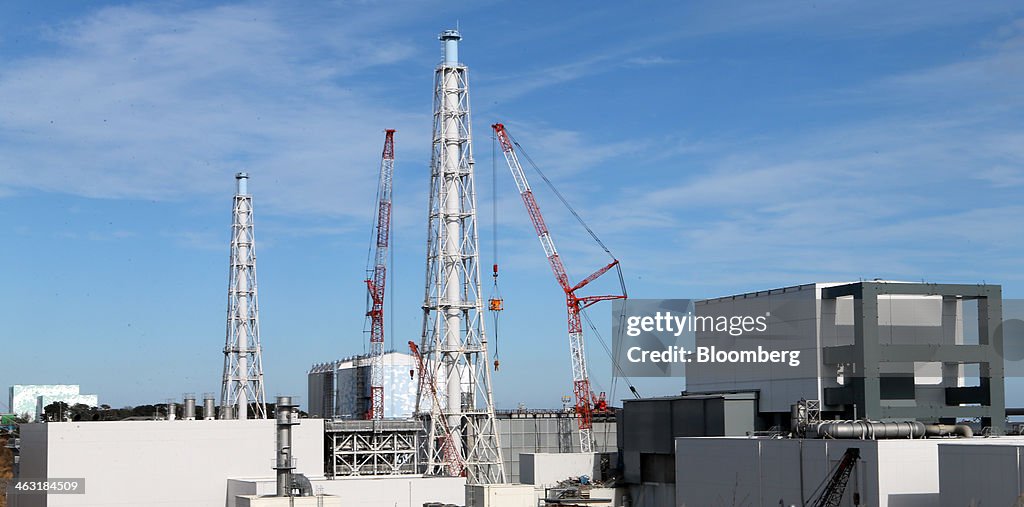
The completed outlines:
[[[272,476],[274,421],[121,421],[22,426],[22,476],[84,477],[85,495],[17,507],[221,507],[227,477]],[[324,474],[324,422],[293,426],[297,472]]]

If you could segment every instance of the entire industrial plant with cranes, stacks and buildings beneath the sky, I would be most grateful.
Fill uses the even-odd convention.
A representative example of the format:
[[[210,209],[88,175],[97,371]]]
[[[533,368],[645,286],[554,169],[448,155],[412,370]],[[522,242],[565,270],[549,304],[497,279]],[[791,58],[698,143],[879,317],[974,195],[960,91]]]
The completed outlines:
[[[788,363],[693,362],[685,388],[680,381],[677,394],[657,397],[643,397],[616,371],[629,394],[612,399],[591,380],[586,310],[629,307],[624,267],[595,233],[601,225],[588,225],[587,213],[562,199],[586,230],[580,236],[607,254],[590,274],[570,278],[566,264],[583,259],[556,247],[560,230],[549,227],[535,196],[532,161],[498,119],[488,134],[532,224],[536,255],[550,266],[538,277],[555,281],[537,290],[564,295],[558,353],[571,383],[559,388],[571,397],[561,408],[497,409],[492,375],[500,364],[487,323],[505,302],[481,282],[490,276],[497,287],[499,265],[481,262],[469,66],[458,30],[438,39],[430,174],[422,181],[425,270],[401,269],[424,277],[424,293],[420,307],[395,309],[422,312],[420,339],[386,349],[392,182],[401,161],[400,132],[379,125],[376,207],[367,210],[372,255],[358,288],[369,353],[318,351],[308,371],[287,372],[305,378],[306,392],[268,398],[254,226],[260,175],[238,172],[233,196],[224,197],[231,227],[219,396],[169,402],[164,420],[18,425],[0,449],[13,461],[6,505],[1022,505],[1024,436],[1007,423],[1017,412],[1007,408],[999,285],[808,281],[693,301],[694,315],[770,315],[766,327],[772,339],[784,333]],[[589,293],[598,280],[617,289]],[[765,336],[696,331],[692,345],[753,350],[769,343]],[[24,489],[75,477],[83,479],[78,494]]]

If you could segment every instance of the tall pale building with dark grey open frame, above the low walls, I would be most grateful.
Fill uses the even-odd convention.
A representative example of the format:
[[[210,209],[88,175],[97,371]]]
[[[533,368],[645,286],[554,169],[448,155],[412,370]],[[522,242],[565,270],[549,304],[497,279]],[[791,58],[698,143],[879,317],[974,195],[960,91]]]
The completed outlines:
[[[696,346],[800,352],[802,365],[687,365],[688,393],[757,393],[765,425],[800,399],[825,418],[954,422],[1006,417],[997,285],[818,283],[698,301],[699,315],[767,315],[767,333],[696,334]],[[972,379],[977,378],[972,384]]]

